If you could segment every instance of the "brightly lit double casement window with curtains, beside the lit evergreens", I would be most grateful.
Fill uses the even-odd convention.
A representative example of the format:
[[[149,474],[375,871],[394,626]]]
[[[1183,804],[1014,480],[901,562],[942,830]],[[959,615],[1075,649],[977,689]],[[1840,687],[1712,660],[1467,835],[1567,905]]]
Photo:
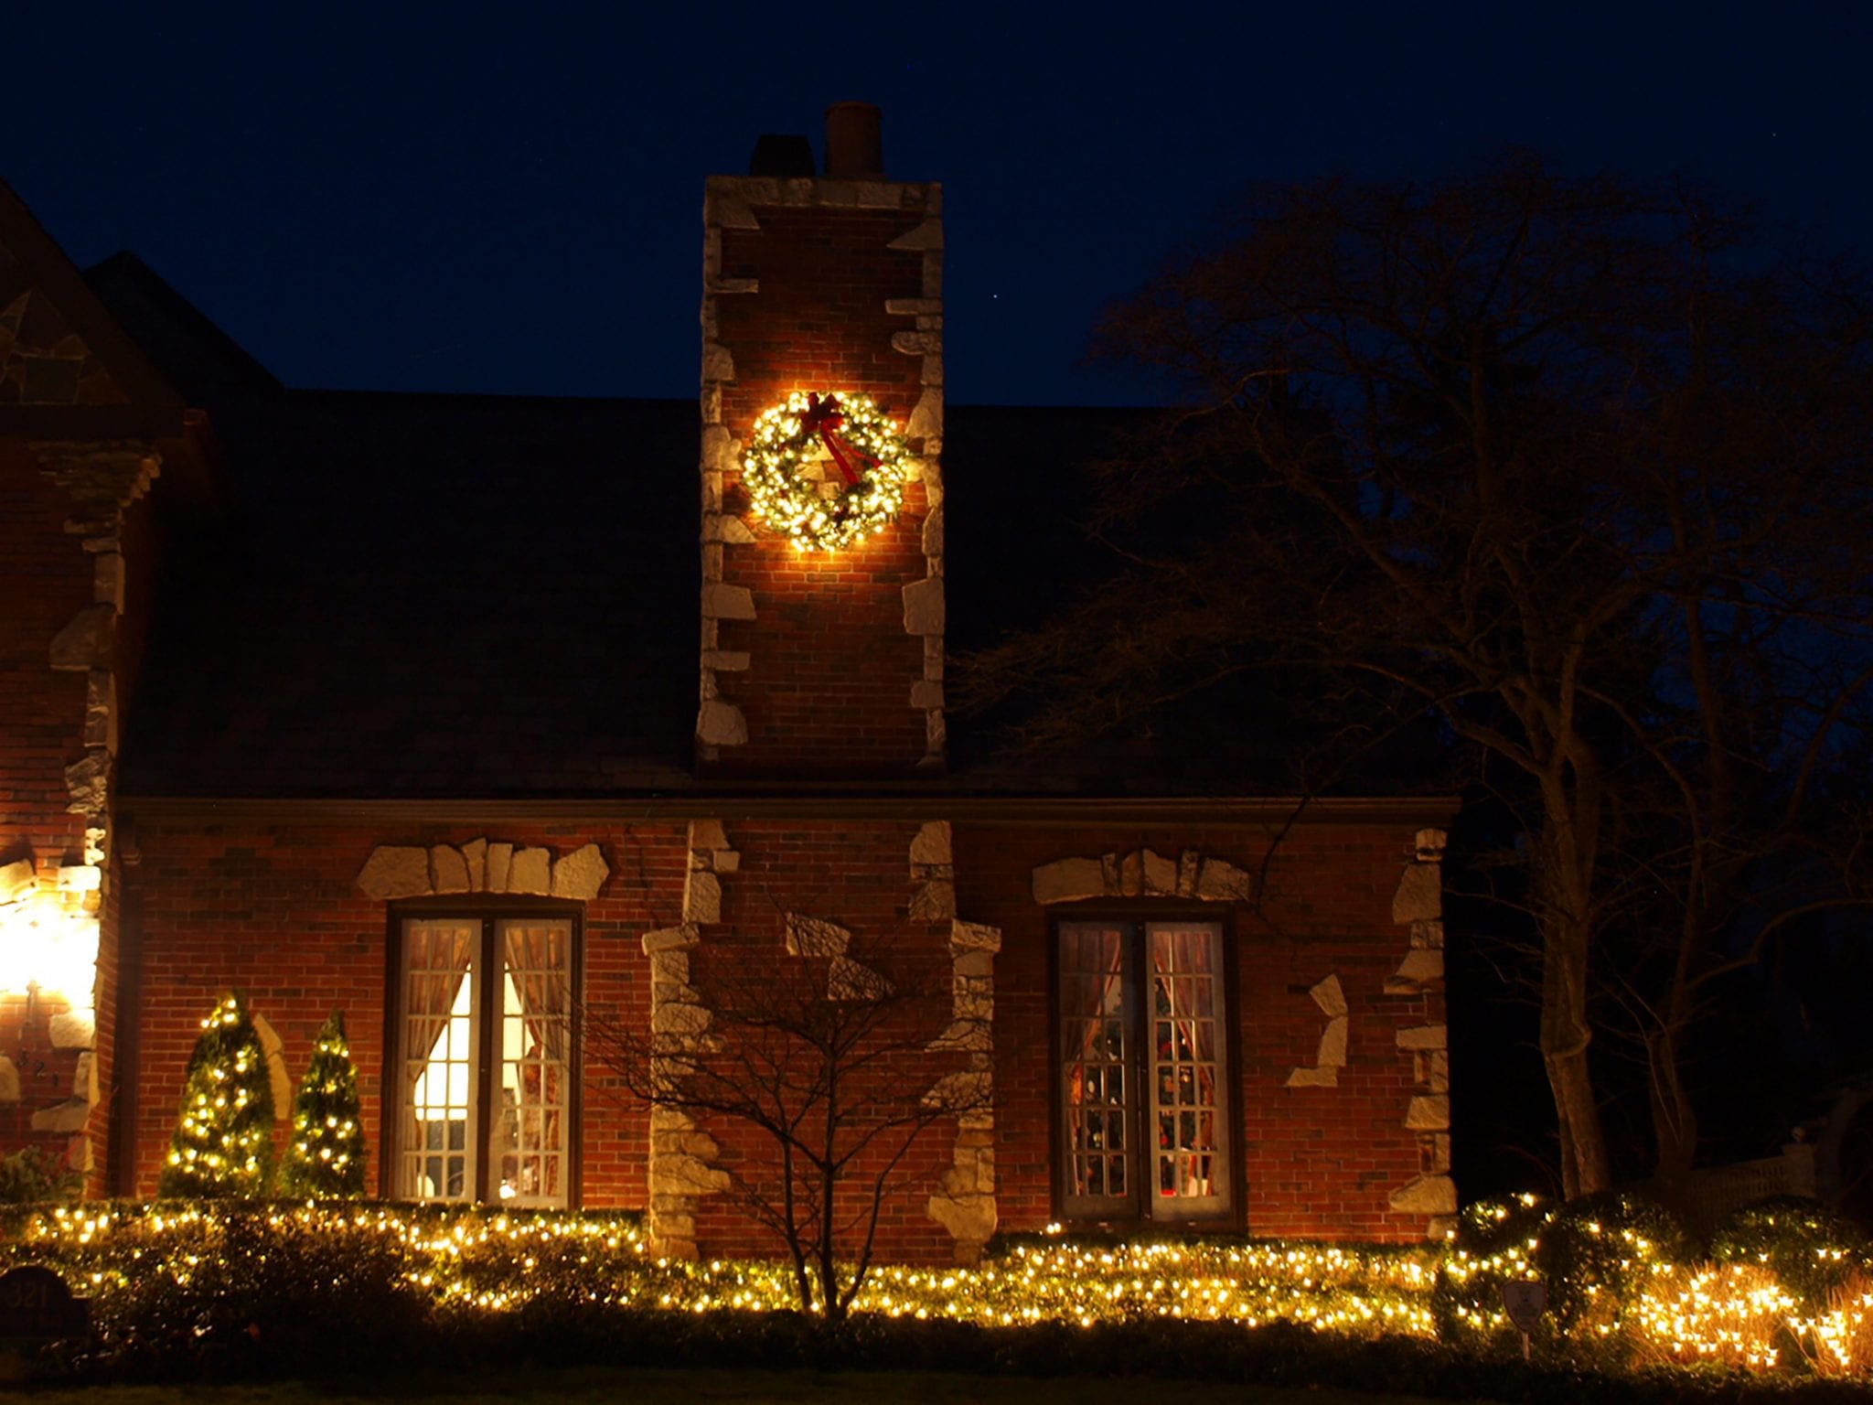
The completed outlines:
[[[571,1205],[573,916],[405,916],[397,925],[390,1195]]]

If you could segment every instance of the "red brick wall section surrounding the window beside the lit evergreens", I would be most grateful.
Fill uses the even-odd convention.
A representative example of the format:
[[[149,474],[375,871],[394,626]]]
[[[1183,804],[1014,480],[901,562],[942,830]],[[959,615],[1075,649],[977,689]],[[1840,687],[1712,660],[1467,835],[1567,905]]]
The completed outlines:
[[[189,1051],[219,991],[245,993],[285,1043],[288,1073],[305,1072],[313,1038],[333,1008],[345,1012],[358,1064],[369,1188],[376,1193],[382,1146],[388,914],[356,877],[380,843],[461,845],[476,837],[543,845],[566,854],[596,841],[611,865],[599,897],[584,905],[584,1000],[620,1027],[642,1027],[648,972],[641,937],[667,925],[682,903],[684,826],[648,824],[603,834],[568,826],[378,830],[367,826],[272,826],[146,822],[140,864],[129,875],[139,907],[137,1066],[116,1077],[135,1085],[133,1193],[155,1190],[174,1131]],[[474,894],[450,897],[465,909]],[[288,1109],[281,1109],[288,1111]],[[644,1203],[641,1109],[627,1105],[603,1068],[586,1070],[581,1137],[584,1203]],[[285,1124],[277,1145],[285,1148]]]

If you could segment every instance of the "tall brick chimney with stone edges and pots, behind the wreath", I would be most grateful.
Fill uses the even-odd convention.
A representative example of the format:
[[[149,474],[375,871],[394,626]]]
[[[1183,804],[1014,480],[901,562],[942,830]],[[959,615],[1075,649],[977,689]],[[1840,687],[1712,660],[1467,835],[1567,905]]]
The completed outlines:
[[[710,176],[702,221],[704,774],[888,779],[944,764],[942,187],[890,182],[878,111],[826,112],[826,174],[764,137]],[[779,172],[779,174],[775,174]],[[903,508],[804,553],[751,511],[755,418],[863,393],[908,450]]]

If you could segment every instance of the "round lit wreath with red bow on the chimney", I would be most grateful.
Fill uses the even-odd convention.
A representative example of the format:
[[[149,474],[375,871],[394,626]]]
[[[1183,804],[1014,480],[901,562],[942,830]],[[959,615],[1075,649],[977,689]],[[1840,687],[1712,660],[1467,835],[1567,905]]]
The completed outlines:
[[[796,390],[760,412],[742,455],[755,517],[796,551],[839,551],[905,506],[905,440],[869,395]]]

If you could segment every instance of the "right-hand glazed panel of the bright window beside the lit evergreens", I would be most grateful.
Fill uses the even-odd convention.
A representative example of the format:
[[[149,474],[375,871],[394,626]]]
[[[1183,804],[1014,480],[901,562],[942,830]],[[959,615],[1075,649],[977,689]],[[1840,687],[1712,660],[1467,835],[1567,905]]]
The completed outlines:
[[[566,1205],[571,924],[502,922],[500,954],[493,1190],[517,1205]]]

